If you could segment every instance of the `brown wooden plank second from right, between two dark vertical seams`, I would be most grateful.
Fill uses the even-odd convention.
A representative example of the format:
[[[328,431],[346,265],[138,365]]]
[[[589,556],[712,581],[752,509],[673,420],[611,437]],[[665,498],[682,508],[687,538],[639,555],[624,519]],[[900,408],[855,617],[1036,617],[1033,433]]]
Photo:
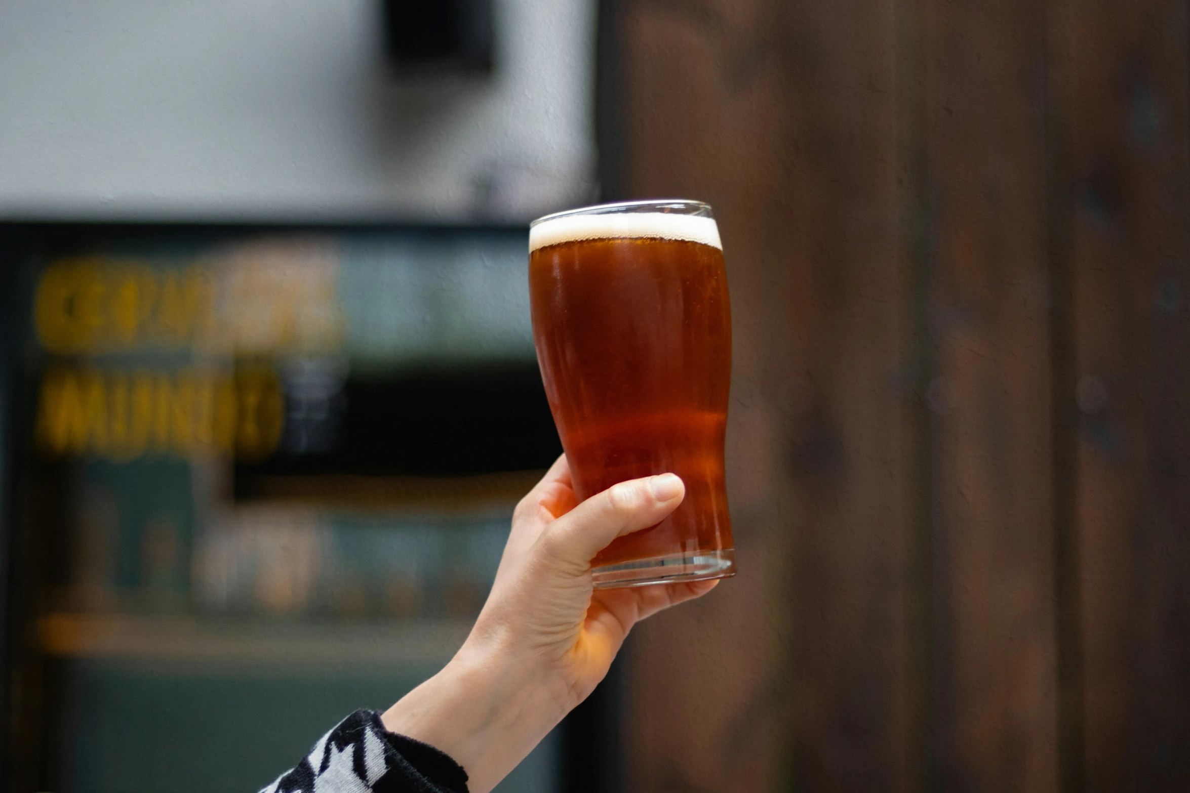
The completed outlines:
[[[933,376],[932,780],[1058,780],[1045,6],[925,8]]]

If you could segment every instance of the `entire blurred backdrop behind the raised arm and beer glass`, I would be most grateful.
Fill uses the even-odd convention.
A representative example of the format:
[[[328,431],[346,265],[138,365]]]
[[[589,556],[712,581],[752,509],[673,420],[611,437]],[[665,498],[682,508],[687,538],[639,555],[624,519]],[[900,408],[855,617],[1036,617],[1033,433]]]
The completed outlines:
[[[1190,791],[1185,0],[0,4],[14,793],[252,791],[559,452],[527,222],[710,202],[740,573],[501,787]]]

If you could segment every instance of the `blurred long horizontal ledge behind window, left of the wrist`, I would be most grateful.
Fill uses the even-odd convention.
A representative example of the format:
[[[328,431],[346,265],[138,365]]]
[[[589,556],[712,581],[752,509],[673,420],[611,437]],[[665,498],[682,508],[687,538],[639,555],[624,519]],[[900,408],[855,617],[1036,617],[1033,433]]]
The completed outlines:
[[[65,659],[375,667],[445,663],[471,624],[55,613],[38,634],[48,655]]]

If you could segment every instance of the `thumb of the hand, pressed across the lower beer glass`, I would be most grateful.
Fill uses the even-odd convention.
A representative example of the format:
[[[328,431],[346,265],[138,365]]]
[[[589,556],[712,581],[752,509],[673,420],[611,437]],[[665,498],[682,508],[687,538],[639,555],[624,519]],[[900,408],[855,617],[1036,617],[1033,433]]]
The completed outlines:
[[[557,560],[587,569],[608,543],[660,523],[684,496],[685,485],[674,473],[621,482],[553,521],[541,542]]]

